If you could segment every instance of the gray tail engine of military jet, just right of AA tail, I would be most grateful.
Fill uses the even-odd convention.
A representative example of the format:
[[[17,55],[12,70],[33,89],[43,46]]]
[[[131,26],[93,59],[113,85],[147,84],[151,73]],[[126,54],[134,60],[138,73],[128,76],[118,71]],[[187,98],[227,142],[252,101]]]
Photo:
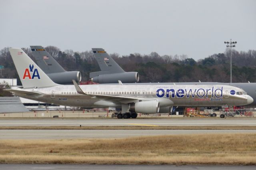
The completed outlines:
[[[81,81],[80,71],[65,71],[60,73],[49,73],[47,74],[52,81],[58,84],[73,84],[72,80],[77,82]]]

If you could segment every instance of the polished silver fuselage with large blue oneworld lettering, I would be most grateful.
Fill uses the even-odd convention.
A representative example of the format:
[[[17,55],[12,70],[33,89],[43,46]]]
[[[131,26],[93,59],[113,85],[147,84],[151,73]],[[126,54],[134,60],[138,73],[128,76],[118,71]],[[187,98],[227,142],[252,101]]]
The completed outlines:
[[[247,105],[253,99],[244,90],[230,85],[80,85],[90,94],[78,94],[74,85],[58,85],[45,88],[19,89],[21,91],[41,92],[40,96],[16,94],[26,99],[44,103],[77,107],[121,107],[122,104],[136,103],[140,100],[156,100],[160,107],[166,106],[222,106]],[[160,89],[160,90],[159,90]],[[235,91],[231,94],[230,91]],[[243,92],[237,94],[236,92]],[[94,94],[110,96],[102,99]],[[113,99],[114,96],[138,98],[134,100]]]

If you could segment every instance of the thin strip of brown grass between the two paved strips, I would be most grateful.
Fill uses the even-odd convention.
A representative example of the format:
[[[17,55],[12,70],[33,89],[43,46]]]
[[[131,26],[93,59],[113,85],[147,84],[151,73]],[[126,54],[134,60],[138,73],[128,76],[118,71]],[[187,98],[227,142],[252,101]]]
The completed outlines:
[[[9,126],[0,127],[0,129],[65,129],[65,130],[240,130],[256,129],[256,126]]]

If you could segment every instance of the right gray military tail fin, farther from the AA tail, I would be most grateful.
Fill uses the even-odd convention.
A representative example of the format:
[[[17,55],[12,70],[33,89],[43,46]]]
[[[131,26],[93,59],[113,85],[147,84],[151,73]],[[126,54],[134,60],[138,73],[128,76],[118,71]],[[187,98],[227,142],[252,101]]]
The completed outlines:
[[[93,54],[100,66],[98,72],[90,73],[90,78],[100,74],[124,73],[125,71],[106,53],[103,48],[92,48]]]

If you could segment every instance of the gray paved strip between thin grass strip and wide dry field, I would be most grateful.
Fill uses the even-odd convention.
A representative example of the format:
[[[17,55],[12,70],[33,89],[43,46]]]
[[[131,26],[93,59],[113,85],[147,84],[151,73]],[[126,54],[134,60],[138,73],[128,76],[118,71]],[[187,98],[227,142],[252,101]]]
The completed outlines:
[[[256,133],[256,130],[0,130],[0,139],[126,138],[170,134]]]

